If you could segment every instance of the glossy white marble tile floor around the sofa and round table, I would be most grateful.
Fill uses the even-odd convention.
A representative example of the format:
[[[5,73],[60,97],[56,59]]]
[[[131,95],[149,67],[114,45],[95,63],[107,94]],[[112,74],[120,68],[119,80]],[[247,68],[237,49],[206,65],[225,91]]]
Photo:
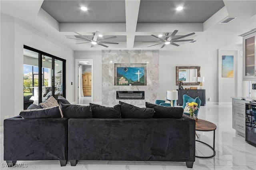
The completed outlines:
[[[216,156],[209,159],[196,158],[193,170],[256,170],[256,147],[245,142],[244,137],[232,128],[232,106],[207,105],[200,107],[199,119],[216,124]],[[201,141],[213,144],[213,131],[200,132]],[[27,168],[2,167],[3,127],[0,127],[0,169],[1,170],[188,170],[185,162],[146,162],[146,161],[79,161],[76,166],[61,167],[59,161],[17,161],[28,164]],[[212,150],[196,142],[196,155],[209,156]]]

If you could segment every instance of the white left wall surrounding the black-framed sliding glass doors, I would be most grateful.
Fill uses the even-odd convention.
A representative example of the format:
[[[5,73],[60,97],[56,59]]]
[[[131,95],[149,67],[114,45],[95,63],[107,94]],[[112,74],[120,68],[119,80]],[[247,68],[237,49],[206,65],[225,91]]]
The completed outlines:
[[[74,101],[74,51],[28,26],[1,14],[0,126],[4,116],[19,115],[23,109],[23,45],[66,59],[66,98]],[[14,107],[15,106],[15,107]]]

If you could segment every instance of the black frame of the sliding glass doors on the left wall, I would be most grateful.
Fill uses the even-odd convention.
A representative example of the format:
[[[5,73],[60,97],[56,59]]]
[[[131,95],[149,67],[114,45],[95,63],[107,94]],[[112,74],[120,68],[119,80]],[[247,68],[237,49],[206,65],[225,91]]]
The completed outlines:
[[[51,55],[49,53],[40,51],[38,49],[34,49],[32,47],[29,47],[27,45],[24,45],[23,47],[24,49],[28,49],[30,51],[34,51],[36,53],[38,53],[38,103],[42,103],[42,56],[46,55],[47,57],[51,57],[52,58],[52,69],[51,69],[51,77],[52,77],[52,94],[54,94],[55,89],[55,82],[54,82],[54,77],[55,77],[55,59],[62,61],[62,95],[63,97],[66,98],[66,59],[62,59],[60,57],[56,57],[54,55]],[[53,95],[54,96],[54,95]]]

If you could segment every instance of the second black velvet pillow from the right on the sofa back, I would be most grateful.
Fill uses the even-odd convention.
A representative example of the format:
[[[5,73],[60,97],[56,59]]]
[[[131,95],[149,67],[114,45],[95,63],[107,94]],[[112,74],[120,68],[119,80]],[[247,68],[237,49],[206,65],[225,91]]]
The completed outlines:
[[[134,105],[130,105],[128,103],[124,103],[119,101],[119,104],[121,106],[121,118],[127,119],[127,118],[152,118],[154,115],[154,109],[150,108],[140,108],[136,107]]]

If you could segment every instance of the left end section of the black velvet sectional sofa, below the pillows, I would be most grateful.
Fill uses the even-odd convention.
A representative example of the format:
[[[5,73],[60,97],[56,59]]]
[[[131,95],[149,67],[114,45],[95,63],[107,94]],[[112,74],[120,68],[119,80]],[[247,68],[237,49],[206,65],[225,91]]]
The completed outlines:
[[[66,162],[67,122],[67,118],[5,119],[4,160]]]

